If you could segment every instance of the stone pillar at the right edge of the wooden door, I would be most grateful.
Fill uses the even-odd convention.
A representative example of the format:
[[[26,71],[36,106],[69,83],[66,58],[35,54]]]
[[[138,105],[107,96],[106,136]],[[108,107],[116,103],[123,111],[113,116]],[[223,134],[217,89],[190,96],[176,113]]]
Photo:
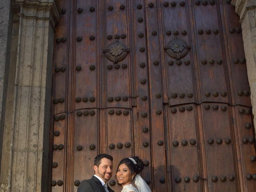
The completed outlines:
[[[232,0],[231,3],[240,16],[248,80],[251,89],[252,113],[254,114],[254,125],[256,125],[256,1]]]

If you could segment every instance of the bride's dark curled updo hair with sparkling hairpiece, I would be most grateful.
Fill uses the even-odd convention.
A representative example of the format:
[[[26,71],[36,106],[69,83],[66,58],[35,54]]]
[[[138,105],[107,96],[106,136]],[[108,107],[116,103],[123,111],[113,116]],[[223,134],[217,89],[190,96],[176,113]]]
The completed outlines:
[[[137,164],[134,164],[134,162],[129,158],[124,158],[118,164],[117,170],[121,164],[126,164],[126,166],[128,166],[128,168],[131,170],[132,174],[134,173],[138,174],[142,172],[142,170],[144,169],[143,161],[138,156],[134,156],[132,158],[135,160]]]

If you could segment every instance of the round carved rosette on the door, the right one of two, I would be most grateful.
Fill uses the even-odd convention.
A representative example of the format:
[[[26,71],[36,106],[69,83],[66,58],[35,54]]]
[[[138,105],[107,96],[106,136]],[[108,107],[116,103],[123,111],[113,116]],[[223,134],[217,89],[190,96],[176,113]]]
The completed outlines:
[[[179,60],[180,58],[185,57],[189,49],[191,48],[184,40],[179,39],[178,36],[175,36],[174,39],[170,40],[167,46],[164,46],[164,49],[172,58]]]

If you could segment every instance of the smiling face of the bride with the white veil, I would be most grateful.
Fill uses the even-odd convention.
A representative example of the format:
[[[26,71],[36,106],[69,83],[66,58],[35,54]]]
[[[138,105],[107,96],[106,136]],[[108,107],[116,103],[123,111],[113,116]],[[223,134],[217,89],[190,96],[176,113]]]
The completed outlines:
[[[126,166],[126,164],[121,164],[116,172],[116,178],[118,183],[123,185],[129,184],[132,181],[134,175],[132,174],[131,170]]]

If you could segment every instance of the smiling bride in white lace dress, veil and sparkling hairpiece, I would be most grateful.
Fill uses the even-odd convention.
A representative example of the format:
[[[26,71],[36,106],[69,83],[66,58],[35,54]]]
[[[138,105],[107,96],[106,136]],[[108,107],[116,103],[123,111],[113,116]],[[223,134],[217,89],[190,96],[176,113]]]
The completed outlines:
[[[143,170],[143,162],[138,156],[124,158],[120,161],[116,178],[122,184],[121,192],[151,192],[149,186],[139,173]]]

